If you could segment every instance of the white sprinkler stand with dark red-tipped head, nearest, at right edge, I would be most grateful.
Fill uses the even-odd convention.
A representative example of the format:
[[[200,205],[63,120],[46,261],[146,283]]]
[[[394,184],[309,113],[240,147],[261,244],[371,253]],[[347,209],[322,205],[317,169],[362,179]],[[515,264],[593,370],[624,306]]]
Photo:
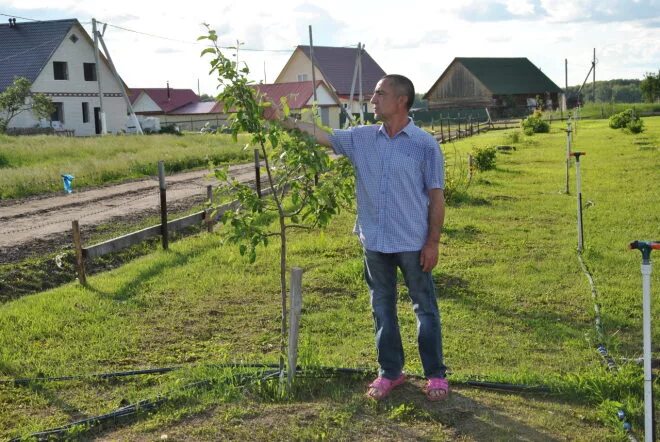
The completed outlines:
[[[642,252],[642,308],[644,318],[644,440],[655,441],[655,418],[653,403],[653,374],[651,372],[651,251],[660,250],[660,241],[633,241],[631,250]]]

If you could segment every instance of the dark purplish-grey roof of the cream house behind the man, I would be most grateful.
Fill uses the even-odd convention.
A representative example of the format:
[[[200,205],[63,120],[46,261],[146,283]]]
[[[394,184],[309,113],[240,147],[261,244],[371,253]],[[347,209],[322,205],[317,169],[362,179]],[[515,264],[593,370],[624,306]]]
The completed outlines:
[[[309,58],[309,46],[298,46]],[[353,84],[353,71],[357,48],[337,48],[331,46],[314,46],[314,61],[316,67],[323,73],[326,81],[335,89],[337,95],[350,95]],[[367,51],[362,52],[362,92],[371,95],[378,80],[383,78],[385,71],[371,58]],[[358,86],[355,86],[355,93]]]

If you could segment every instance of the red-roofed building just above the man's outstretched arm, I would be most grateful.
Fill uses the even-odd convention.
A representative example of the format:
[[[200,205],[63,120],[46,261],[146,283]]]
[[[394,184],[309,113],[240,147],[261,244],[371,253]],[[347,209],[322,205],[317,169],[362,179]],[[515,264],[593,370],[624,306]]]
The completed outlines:
[[[316,88],[311,81],[298,81],[293,83],[274,83],[254,85],[257,91],[270,102],[279,106],[280,99],[286,98],[291,113],[303,120],[311,121],[311,110],[314,103],[314,89],[316,89],[316,104],[319,108],[321,123],[333,129],[339,128],[339,113],[341,102],[332,89],[323,80],[316,80]],[[269,112],[267,109],[266,112]]]

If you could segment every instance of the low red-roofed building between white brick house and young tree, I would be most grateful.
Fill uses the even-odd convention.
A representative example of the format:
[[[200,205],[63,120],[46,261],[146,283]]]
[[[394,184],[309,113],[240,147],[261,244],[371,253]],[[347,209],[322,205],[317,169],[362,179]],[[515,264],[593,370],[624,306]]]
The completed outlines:
[[[138,117],[157,117],[161,127],[174,124],[181,130],[198,131],[207,125],[227,125],[222,103],[200,101],[192,89],[131,88],[128,95]]]

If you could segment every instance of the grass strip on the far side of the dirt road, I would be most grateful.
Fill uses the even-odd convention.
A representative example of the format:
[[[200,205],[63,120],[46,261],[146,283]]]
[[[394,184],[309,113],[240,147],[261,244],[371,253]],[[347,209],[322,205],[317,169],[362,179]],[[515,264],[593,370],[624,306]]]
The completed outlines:
[[[0,200],[62,191],[63,174],[83,189],[158,175],[158,161],[167,173],[215,164],[249,161],[243,149],[225,134],[106,136],[66,138],[0,135]]]

